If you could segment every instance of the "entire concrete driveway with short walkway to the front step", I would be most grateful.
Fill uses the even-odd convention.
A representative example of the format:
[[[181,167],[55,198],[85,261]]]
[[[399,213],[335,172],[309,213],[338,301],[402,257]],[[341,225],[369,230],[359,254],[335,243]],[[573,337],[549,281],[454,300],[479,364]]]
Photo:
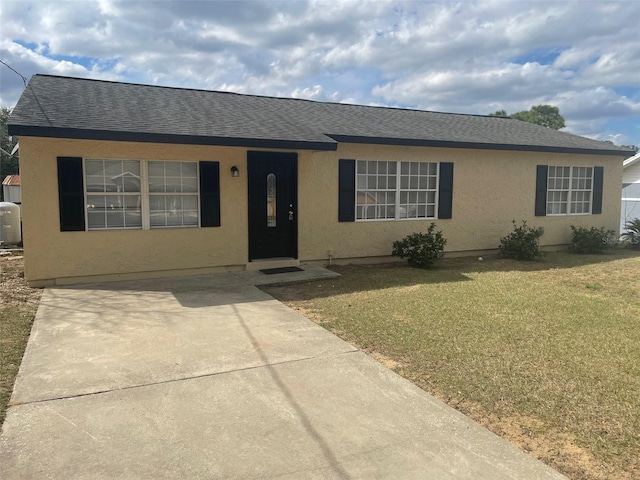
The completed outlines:
[[[304,269],[45,290],[0,476],[565,478],[254,286]]]

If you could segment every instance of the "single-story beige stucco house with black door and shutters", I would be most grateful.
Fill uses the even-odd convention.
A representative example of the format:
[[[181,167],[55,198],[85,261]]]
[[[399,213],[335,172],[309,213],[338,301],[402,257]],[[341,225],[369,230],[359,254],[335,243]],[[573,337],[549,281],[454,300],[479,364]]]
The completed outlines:
[[[632,152],[518,120],[35,75],[20,141],[31,285],[451,254],[512,220],[615,229]]]

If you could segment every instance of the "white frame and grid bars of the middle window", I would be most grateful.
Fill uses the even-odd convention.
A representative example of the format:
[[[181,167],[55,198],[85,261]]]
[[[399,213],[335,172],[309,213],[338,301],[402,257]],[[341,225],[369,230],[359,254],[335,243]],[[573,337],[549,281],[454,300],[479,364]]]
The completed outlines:
[[[387,185],[387,188],[369,188],[368,185],[366,188],[359,188],[358,187],[358,176],[362,176],[364,175],[365,179],[369,179],[371,174],[368,173],[368,164],[367,167],[365,168],[365,173],[361,174],[358,173],[359,172],[359,164],[360,163],[367,163],[367,162],[375,162],[378,164],[378,166],[376,167],[376,169],[379,169],[379,164],[381,163],[386,163],[387,164],[387,171],[388,171],[388,165],[391,164],[395,164],[396,168],[395,168],[395,173],[393,174],[393,176],[395,176],[395,188],[389,188],[388,182],[385,182]],[[408,164],[409,165],[409,174],[403,174],[402,173],[402,164]],[[418,164],[418,169],[420,169],[420,165],[427,165],[427,173],[426,174],[421,174],[419,171],[417,174],[412,174],[411,173],[411,164]],[[430,166],[431,165],[435,165],[435,174],[430,173]],[[383,177],[390,177],[392,175],[390,175],[389,173],[385,172],[383,174],[380,174],[379,172],[376,172],[375,174],[375,179],[376,179],[376,183],[378,183],[378,178],[383,178]],[[403,188],[401,185],[401,178],[402,176],[408,176],[409,178],[409,185],[406,188]],[[415,186],[414,188],[411,187],[411,182],[412,182],[412,177],[415,178],[418,182],[418,185]],[[426,179],[427,182],[427,186],[425,188],[420,188],[420,179],[424,178]],[[429,188],[429,180],[430,179],[434,179],[435,182],[435,187],[433,188]],[[415,220],[437,220],[438,217],[438,201],[439,201],[439,186],[440,186],[440,162],[427,162],[427,161],[419,161],[419,160],[356,160],[356,188],[355,188],[355,221],[356,222],[383,222],[383,221],[415,221]],[[366,205],[364,203],[358,203],[358,195],[361,194],[362,192],[367,192],[367,194],[369,194],[370,192],[376,192],[376,193],[383,193],[385,194],[385,199],[387,198],[386,195],[389,193],[393,193],[395,194],[395,201],[394,203],[382,203],[382,204],[373,204],[370,206],[374,206],[376,209],[385,209],[385,214],[386,214],[386,209],[388,207],[392,207],[394,210],[394,216],[393,217],[381,217],[381,218],[359,218],[359,208],[367,208]],[[407,201],[407,203],[402,203],[400,201],[400,197],[402,193],[415,193],[416,195],[418,195],[419,193],[424,193],[426,196],[426,201],[423,202],[410,202]],[[429,202],[429,194],[433,194],[434,196],[434,201],[433,202]],[[403,205],[416,205],[418,207],[420,206],[424,206],[425,208],[425,216],[420,216],[420,217],[402,217],[400,216],[400,209],[403,207]],[[433,216],[429,216],[428,215],[428,211],[429,208],[433,207]]]

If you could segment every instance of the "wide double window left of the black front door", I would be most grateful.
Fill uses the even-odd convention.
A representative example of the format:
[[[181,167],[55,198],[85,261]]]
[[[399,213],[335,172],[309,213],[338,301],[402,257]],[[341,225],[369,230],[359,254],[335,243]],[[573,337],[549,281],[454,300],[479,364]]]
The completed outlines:
[[[198,226],[197,162],[85,160],[89,230]]]

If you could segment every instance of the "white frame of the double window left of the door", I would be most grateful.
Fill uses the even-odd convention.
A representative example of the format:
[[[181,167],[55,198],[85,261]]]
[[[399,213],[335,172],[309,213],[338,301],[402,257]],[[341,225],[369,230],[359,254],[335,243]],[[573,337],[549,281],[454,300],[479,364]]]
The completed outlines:
[[[140,215],[142,217],[142,226],[141,227],[107,227],[107,228],[89,228],[89,209],[85,207],[85,230],[89,232],[104,232],[104,231],[115,231],[115,230],[163,230],[163,229],[176,229],[176,228],[200,228],[201,223],[201,208],[200,208],[200,168],[197,161],[192,160],[139,160],[135,158],[83,158],[82,159],[82,184],[84,190],[84,198],[85,205],[88,204],[88,200],[91,196],[99,196],[99,195],[109,195],[109,193],[104,192],[88,192],[87,191],[87,172],[86,172],[86,162],[90,160],[106,160],[106,161],[131,161],[131,162],[139,162],[140,164],[140,192],[117,192],[112,193],[112,196],[118,195],[129,195],[129,196],[138,196],[140,197]],[[149,192],[149,162],[165,162],[165,163],[194,163],[196,164],[196,192]],[[172,195],[172,196],[194,196],[197,199],[197,215],[198,215],[198,223],[197,225],[168,225],[168,226],[151,226],[150,220],[150,197],[157,195]]]

